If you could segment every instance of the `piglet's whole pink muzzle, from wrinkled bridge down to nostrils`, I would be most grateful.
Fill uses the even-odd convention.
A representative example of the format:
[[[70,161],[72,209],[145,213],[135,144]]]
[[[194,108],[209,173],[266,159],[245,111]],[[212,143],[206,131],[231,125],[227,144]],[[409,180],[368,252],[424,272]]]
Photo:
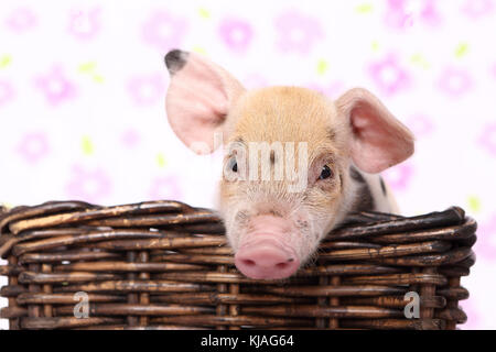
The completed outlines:
[[[288,221],[272,216],[259,216],[251,220],[251,231],[235,255],[236,267],[256,279],[280,279],[293,275],[300,260],[290,245]]]

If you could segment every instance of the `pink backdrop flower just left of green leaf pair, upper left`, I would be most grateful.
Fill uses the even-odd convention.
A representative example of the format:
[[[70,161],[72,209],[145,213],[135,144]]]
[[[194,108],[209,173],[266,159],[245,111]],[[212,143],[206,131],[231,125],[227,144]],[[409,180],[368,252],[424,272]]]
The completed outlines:
[[[75,86],[65,77],[60,66],[54,66],[46,75],[39,76],[35,84],[46,100],[53,106],[76,95]]]

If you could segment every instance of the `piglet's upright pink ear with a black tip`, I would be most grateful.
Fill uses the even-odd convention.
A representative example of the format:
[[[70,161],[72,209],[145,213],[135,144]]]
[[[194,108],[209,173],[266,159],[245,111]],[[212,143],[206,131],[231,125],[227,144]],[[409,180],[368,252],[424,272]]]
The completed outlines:
[[[198,54],[174,50],[165,55],[165,65],[171,75],[165,111],[172,130],[195,152],[212,153],[215,132],[245,88]]]

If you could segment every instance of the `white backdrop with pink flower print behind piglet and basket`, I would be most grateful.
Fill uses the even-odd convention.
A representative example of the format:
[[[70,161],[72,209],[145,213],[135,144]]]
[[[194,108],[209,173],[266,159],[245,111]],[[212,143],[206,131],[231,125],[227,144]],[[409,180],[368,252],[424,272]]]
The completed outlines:
[[[249,88],[336,98],[363,86],[417,136],[416,155],[385,174],[403,212],[459,205],[477,219],[464,328],[494,329],[495,33],[494,0],[2,0],[0,202],[211,207],[209,162],[166,122],[171,48],[207,55]]]

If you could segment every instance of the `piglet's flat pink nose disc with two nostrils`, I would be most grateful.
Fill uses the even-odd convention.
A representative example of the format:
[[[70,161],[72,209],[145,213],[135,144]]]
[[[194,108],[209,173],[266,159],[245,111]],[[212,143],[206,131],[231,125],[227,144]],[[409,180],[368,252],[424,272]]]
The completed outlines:
[[[265,239],[239,249],[235,264],[248,277],[277,279],[294,274],[300,261],[293,251],[283,249],[271,239]]]

